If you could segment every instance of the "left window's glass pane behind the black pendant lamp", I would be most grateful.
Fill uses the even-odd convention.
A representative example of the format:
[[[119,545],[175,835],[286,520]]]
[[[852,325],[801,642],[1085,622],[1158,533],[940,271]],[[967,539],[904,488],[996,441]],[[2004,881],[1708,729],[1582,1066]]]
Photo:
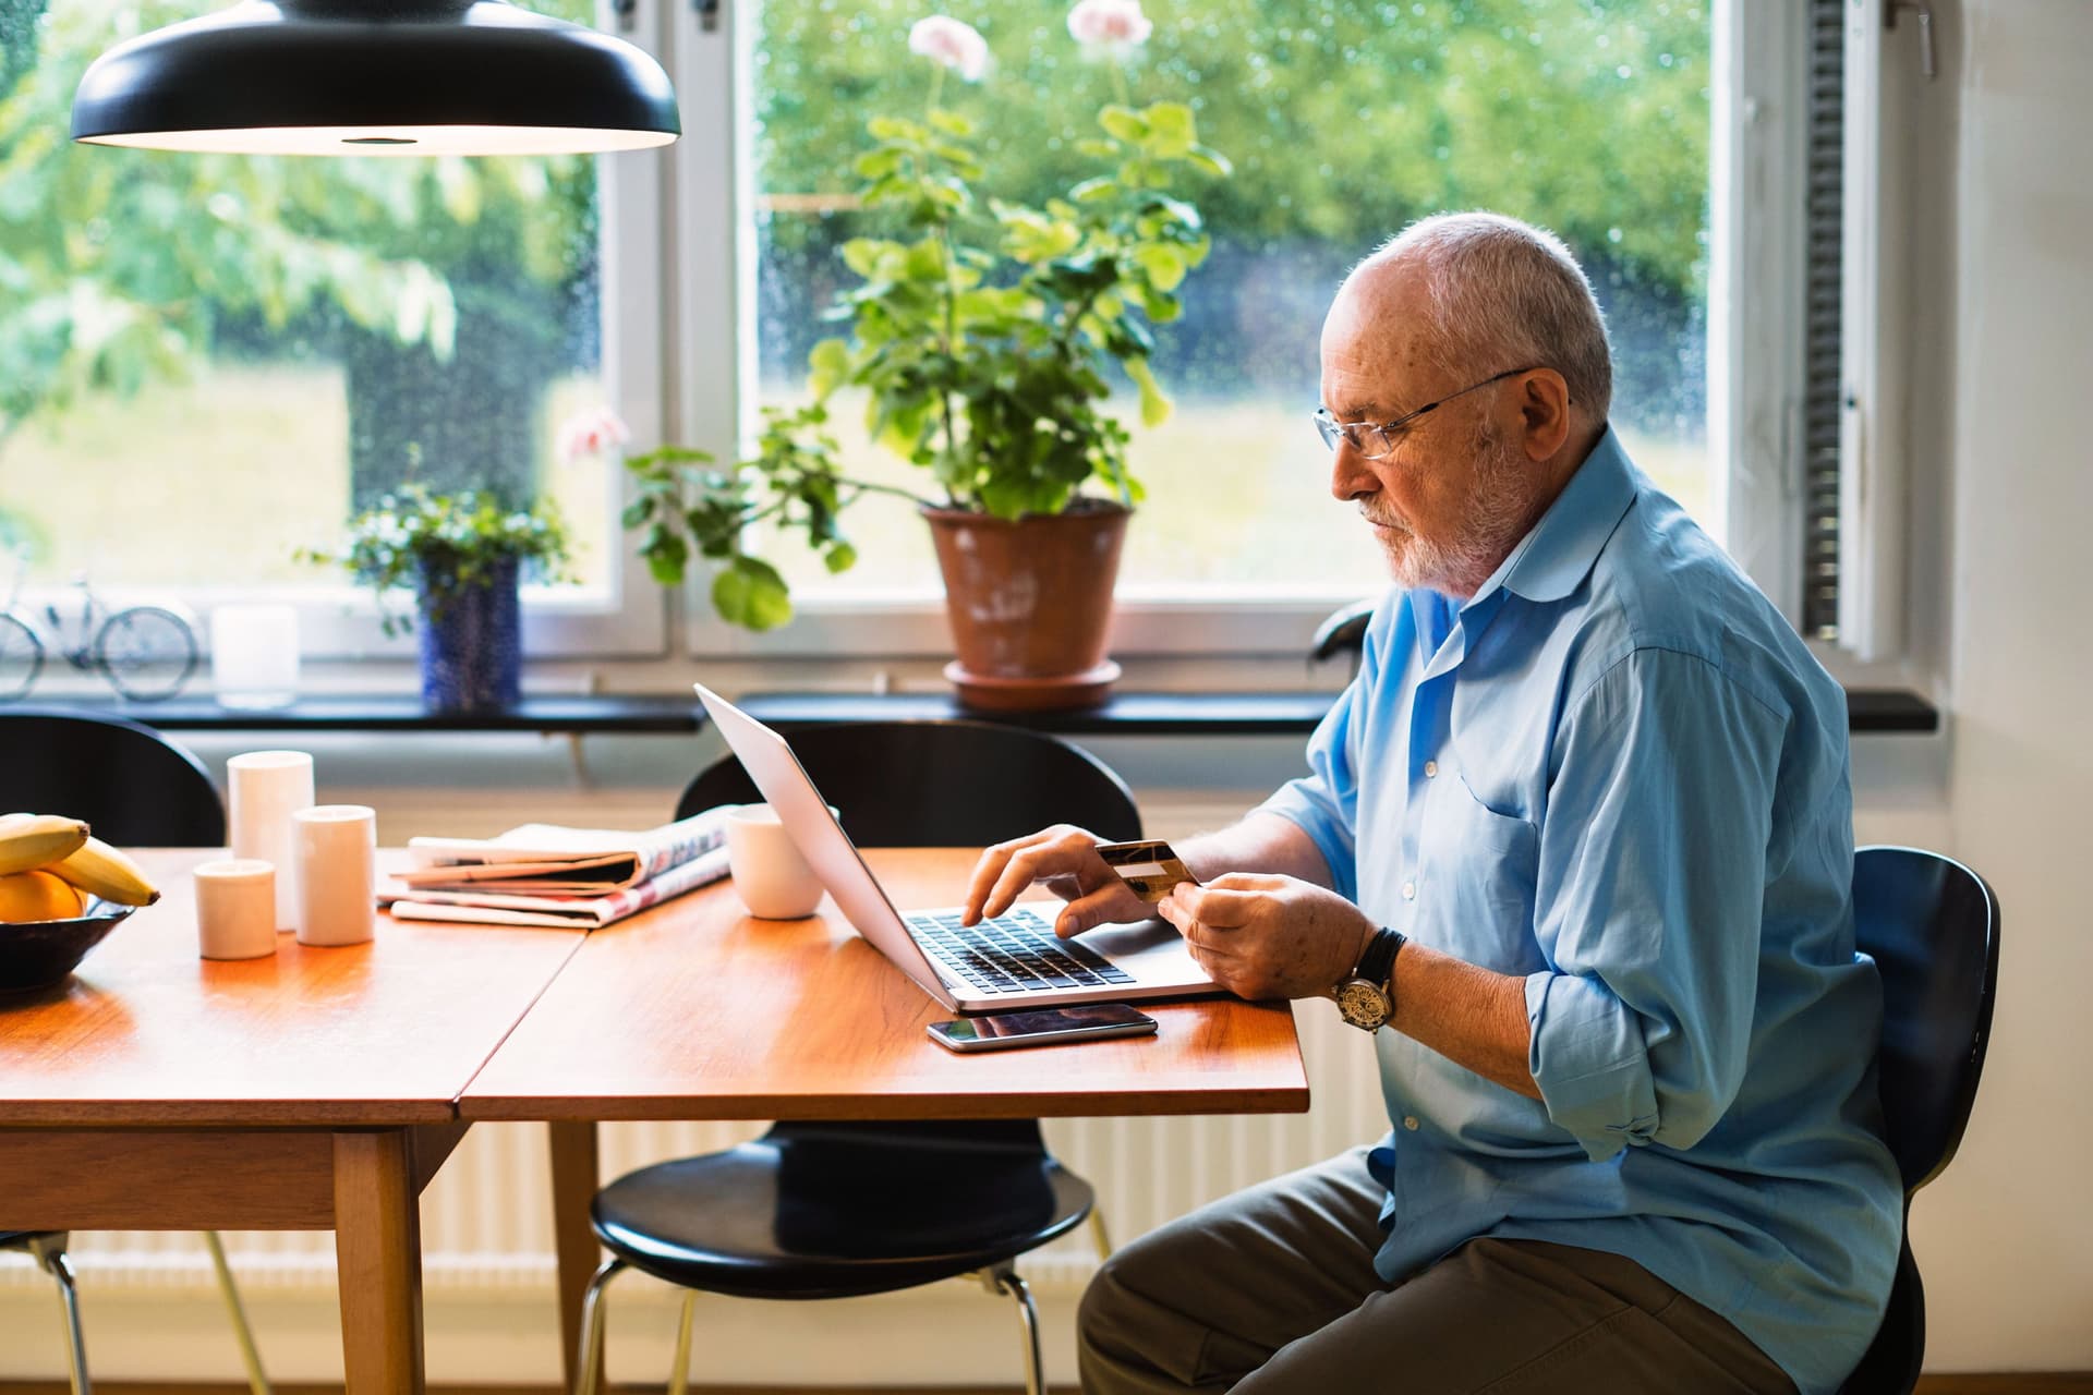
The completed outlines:
[[[603,399],[594,159],[65,138],[98,52],[216,8],[0,0],[0,535],[44,581],[341,586],[293,550],[412,477],[550,494],[605,584],[613,481],[553,450]]]

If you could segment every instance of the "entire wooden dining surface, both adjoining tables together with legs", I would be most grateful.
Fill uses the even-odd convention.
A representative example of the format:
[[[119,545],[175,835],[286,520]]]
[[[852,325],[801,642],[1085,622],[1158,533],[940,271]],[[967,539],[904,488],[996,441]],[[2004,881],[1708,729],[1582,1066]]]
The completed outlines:
[[[954,1056],[833,906],[749,920],[726,885],[588,937],[381,916],[366,945],[199,960],[211,855],[140,853],[165,899],[65,985],[0,998],[0,1228],[333,1228],[347,1395],[423,1391],[417,1198],[479,1119],[550,1123],[571,1366],[599,1119],[1308,1108],[1285,1006],[1155,1004],[1153,1039]],[[957,899],[973,864],[867,857],[904,906]]]

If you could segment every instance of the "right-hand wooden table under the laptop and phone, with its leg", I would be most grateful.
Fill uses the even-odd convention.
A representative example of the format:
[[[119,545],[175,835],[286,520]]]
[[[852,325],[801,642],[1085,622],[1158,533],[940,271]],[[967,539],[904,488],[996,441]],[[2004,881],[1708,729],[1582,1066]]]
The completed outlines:
[[[959,899],[973,853],[871,849],[898,906]],[[1155,1037],[959,1056],[950,1016],[823,904],[749,920],[707,887],[588,937],[479,1071],[458,1113],[542,1119],[569,1389],[597,1263],[588,1200],[601,1119],[938,1119],[1308,1108],[1293,1012],[1201,998],[1143,1004]]]

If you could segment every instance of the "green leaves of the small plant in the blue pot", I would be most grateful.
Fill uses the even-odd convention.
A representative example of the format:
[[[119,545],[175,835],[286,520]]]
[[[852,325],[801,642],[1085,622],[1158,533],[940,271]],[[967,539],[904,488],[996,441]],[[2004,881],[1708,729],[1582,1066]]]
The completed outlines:
[[[534,563],[559,579],[569,552],[550,500],[521,510],[477,489],[433,494],[408,481],[350,519],[343,550],[301,548],[297,556],[345,567],[370,586],[385,634],[396,634],[412,621],[385,609],[391,590],[419,586],[427,619],[437,621],[456,596],[488,586],[500,563]]]

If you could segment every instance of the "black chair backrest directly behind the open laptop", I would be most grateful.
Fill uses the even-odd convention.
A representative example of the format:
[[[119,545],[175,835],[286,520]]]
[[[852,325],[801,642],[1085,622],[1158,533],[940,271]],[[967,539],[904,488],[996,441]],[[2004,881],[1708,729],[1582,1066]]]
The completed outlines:
[[[1141,837],[1126,782],[1049,732],[994,722],[846,722],[785,732],[800,765],[860,847],[982,847],[1046,824],[1116,843]],[[676,803],[689,818],[762,795],[733,753]]]

